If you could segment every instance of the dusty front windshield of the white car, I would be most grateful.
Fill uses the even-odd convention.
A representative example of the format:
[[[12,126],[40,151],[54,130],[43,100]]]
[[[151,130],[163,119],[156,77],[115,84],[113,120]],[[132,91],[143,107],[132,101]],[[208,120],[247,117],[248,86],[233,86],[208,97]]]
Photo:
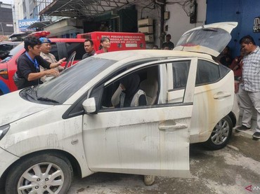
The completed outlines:
[[[63,104],[75,92],[91,81],[92,78],[115,62],[114,60],[105,60],[95,57],[82,60],[63,71],[60,76],[39,85],[33,99],[39,102],[45,101],[53,102],[54,104]],[[30,90],[35,90],[35,88]],[[23,90],[22,92],[28,93],[30,91]],[[31,93],[32,92],[30,92],[30,94]],[[25,94],[21,94],[21,96],[24,95]]]

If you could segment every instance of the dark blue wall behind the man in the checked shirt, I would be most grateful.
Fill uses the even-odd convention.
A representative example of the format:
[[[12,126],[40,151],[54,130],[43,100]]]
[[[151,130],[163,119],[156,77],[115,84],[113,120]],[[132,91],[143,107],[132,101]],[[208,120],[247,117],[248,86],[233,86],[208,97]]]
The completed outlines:
[[[260,1],[254,0],[207,0],[207,23],[238,22],[232,32],[232,39],[228,46],[233,57],[240,54],[239,41],[242,36],[249,34],[256,45],[260,45],[260,33],[253,32],[254,18],[259,17]]]

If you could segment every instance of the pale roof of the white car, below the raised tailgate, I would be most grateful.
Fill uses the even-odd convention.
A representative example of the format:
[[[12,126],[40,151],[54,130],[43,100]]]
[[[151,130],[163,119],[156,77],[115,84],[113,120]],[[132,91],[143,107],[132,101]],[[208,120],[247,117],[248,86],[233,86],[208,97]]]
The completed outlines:
[[[135,60],[142,60],[145,58],[160,58],[160,57],[199,57],[207,60],[212,60],[212,56],[202,53],[186,52],[178,50],[122,50],[113,51],[108,53],[103,53],[99,55],[94,55],[94,57],[99,57],[108,60],[131,62]]]

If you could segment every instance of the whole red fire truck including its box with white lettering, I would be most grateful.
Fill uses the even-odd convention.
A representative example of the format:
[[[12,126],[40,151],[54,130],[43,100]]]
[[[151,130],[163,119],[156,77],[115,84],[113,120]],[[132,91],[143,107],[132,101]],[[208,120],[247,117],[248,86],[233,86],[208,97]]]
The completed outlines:
[[[39,38],[43,36],[51,36],[51,34],[42,31],[29,34],[28,36],[36,36]],[[100,39],[103,36],[108,36],[111,41],[110,51],[145,49],[145,35],[142,33],[90,32],[86,34],[78,34],[77,39],[49,38],[52,46],[51,53],[57,60],[62,59],[63,57],[68,60],[70,55],[76,51],[74,62],[77,62],[82,60],[82,56],[85,53],[85,39],[92,39],[95,50],[98,50]],[[25,53],[25,48],[23,43],[20,43],[20,45],[10,51],[5,60],[0,62],[0,95],[17,90],[13,81],[13,74],[15,74],[15,71],[17,70],[17,60],[22,53]]]

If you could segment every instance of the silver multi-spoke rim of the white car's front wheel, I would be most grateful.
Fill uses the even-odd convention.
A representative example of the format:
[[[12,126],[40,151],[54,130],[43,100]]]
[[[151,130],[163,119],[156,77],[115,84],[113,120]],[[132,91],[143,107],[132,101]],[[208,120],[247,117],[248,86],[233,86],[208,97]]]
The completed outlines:
[[[56,194],[63,187],[64,174],[57,165],[44,162],[27,169],[18,181],[18,193]]]

